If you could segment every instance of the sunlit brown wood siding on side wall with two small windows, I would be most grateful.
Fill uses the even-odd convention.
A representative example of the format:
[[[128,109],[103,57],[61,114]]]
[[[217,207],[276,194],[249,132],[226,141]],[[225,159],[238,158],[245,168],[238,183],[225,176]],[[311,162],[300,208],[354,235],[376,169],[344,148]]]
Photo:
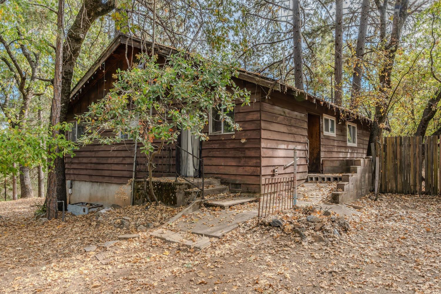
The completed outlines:
[[[295,97],[273,92],[271,98],[262,100],[262,177],[291,176],[293,167],[283,166],[292,162],[293,148],[297,147],[297,179],[305,181],[307,114],[320,115],[321,159],[362,158],[366,156],[369,127],[357,121],[357,147],[347,145],[346,123],[336,124],[336,137],[323,135],[323,113],[336,117],[327,109],[308,101],[296,101]],[[355,122],[354,122],[355,123]],[[278,175],[273,170],[278,166]]]

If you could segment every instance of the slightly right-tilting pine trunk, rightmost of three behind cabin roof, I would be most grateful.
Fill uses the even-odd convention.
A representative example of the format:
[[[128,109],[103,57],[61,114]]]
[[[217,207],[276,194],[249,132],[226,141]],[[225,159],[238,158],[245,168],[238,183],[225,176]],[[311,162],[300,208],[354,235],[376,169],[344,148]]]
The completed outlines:
[[[363,0],[360,12],[360,25],[357,37],[357,45],[355,45],[355,68],[352,74],[352,91],[351,91],[351,109],[357,105],[356,98],[360,93],[362,74],[363,74],[363,53],[366,42],[367,20],[369,18],[369,0]]]

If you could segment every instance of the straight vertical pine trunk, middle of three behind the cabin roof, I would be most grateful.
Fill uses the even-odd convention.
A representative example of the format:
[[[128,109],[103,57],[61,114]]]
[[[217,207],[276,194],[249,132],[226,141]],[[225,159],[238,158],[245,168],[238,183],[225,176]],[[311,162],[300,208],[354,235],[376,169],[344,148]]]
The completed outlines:
[[[343,0],[335,2],[335,56],[334,56],[335,104],[343,102]]]

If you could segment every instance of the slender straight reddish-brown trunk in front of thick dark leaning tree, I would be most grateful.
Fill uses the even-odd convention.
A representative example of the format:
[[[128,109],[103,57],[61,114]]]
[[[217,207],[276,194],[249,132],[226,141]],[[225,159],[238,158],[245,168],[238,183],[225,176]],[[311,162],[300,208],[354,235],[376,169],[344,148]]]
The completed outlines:
[[[57,35],[56,35],[56,49],[55,49],[55,72],[54,72],[54,97],[51,106],[51,125],[55,126],[60,123],[61,111],[61,78],[63,74],[63,16],[64,16],[64,0],[58,1],[58,17],[57,17]],[[52,137],[58,136],[59,132],[52,129]],[[49,147],[49,154],[51,153]],[[55,153],[58,152],[58,147],[55,148]],[[54,161],[56,162],[56,161]],[[56,166],[54,166],[56,168]],[[48,173],[48,191],[46,193],[46,217],[48,219],[56,219],[58,214],[57,205],[57,187],[58,178],[56,171],[49,170]],[[64,183],[63,183],[64,184]],[[64,195],[66,196],[66,195]]]

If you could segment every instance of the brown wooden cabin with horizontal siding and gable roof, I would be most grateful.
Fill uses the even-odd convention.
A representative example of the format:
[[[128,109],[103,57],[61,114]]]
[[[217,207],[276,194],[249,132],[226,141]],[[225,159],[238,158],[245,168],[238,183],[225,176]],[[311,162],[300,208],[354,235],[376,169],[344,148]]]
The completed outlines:
[[[127,62],[135,62],[141,45],[140,40],[119,35],[108,46],[73,88],[68,121],[75,121],[76,115],[105,96],[112,87],[112,74],[118,68],[127,69]],[[164,57],[174,49],[157,45],[155,50]],[[284,165],[292,162],[294,147],[299,157],[298,183],[305,181],[308,173],[321,173],[324,159],[366,156],[369,119],[252,72],[239,71],[235,82],[251,92],[250,105],[241,107],[238,102],[233,114],[242,130],[228,132],[210,122],[208,141],[195,141],[191,134],[183,133],[177,143],[180,149],[202,158],[204,177],[219,178],[235,192],[260,194],[264,178],[292,176],[293,166],[284,169]],[[68,137],[75,141],[81,132],[81,124],[75,124]],[[169,158],[165,164],[169,172],[187,169],[182,173],[192,174],[188,170],[191,164],[187,164],[190,159],[183,160],[174,147],[169,152],[162,153]],[[134,160],[131,139],[112,146],[79,148],[75,157],[65,158],[69,202],[127,205],[124,197],[130,197],[127,183],[134,177]],[[135,177],[142,177],[139,167],[137,171]]]

